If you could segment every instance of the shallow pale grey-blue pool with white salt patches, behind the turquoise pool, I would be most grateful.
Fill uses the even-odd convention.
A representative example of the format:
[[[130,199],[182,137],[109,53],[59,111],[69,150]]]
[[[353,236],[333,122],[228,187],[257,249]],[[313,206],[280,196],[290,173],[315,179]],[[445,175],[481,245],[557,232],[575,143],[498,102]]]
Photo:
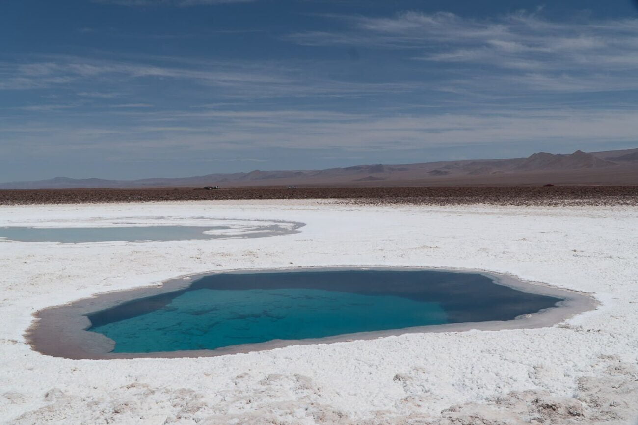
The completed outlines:
[[[143,242],[195,241],[288,234],[296,223],[243,226],[0,227],[0,241],[13,242]],[[292,225],[292,226],[291,226]]]

